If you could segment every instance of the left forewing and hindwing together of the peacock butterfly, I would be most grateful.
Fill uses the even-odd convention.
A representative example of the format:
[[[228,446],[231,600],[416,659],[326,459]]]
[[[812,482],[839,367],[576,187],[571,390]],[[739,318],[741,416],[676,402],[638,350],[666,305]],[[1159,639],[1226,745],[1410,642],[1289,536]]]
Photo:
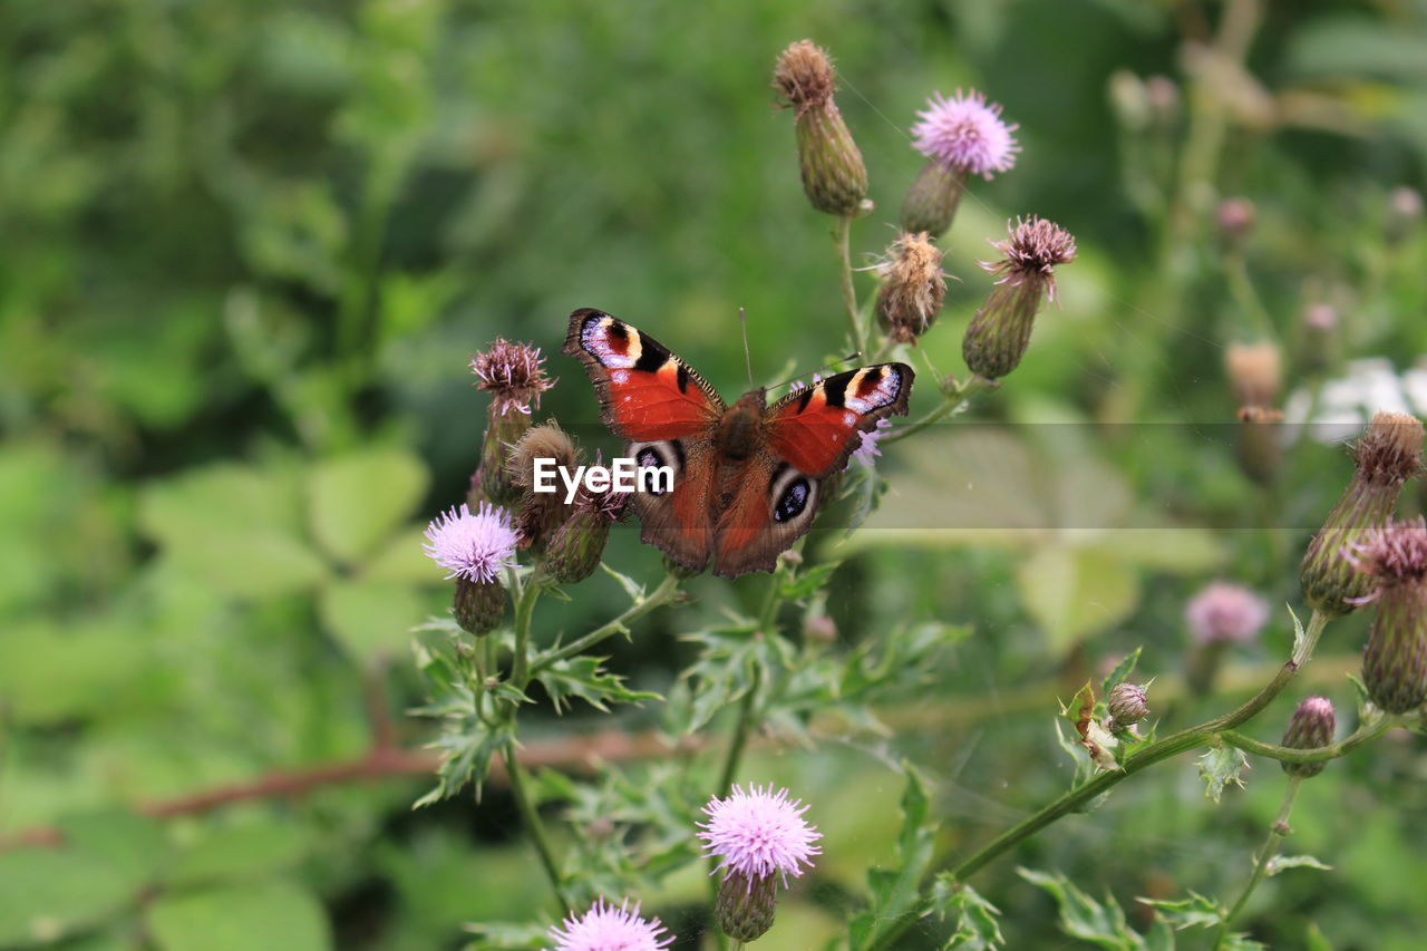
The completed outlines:
[[[569,316],[564,353],[585,364],[601,418],[628,441],[625,454],[641,467],[674,470],[672,490],[634,497],[641,540],[702,570],[714,541],[714,430],[723,400],[668,347],[599,310]]]

